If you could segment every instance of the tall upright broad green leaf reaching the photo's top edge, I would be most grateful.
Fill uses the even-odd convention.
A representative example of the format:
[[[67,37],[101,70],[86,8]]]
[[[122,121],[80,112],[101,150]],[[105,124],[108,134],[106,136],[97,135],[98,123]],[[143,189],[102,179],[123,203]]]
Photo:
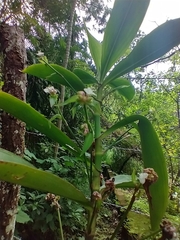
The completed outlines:
[[[102,80],[135,38],[149,2],[149,0],[115,1],[102,44]]]

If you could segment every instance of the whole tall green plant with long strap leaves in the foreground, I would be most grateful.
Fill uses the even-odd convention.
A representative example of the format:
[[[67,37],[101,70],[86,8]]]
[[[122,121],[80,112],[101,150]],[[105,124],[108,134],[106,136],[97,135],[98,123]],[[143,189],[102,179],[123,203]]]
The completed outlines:
[[[137,189],[139,186],[134,176],[127,175],[117,175],[113,181],[105,183],[103,186],[100,184],[101,161],[104,154],[103,140],[113,131],[128,124],[133,124],[139,133],[144,168],[152,168],[158,175],[157,181],[145,189],[149,201],[150,223],[153,231],[159,229],[166,210],[168,200],[166,162],[156,132],[149,120],[140,115],[129,116],[117,122],[105,132],[101,131],[100,121],[103,99],[106,97],[104,89],[107,86],[127,100],[131,100],[135,90],[131,82],[123,75],[160,58],[180,43],[180,31],[177,31],[180,26],[180,18],[178,18],[157,27],[145,36],[127,57],[122,58],[139,30],[149,3],[150,0],[116,0],[102,42],[97,41],[86,29],[90,52],[97,69],[96,77],[81,69],[75,69],[71,72],[59,65],[49,64],[43,57],[41,63],[33,64],[23,70],[23,73],[65,85],[74,91],[74,96],[64,104],[75,102],[82,105],[81,109],[84,111],[88,129],[82,146],[77,145],[72,138],[70,139],[29,104],[0,91],[1,109],[26,122],[28,126],[44,133],[66,148],[78,160],[81,159],[84,162],[91,196],[85,196],[83,192],[68,181],[49,172],[39,170],[22,158],[3,149],[0,150],[0,179],[45,192],[52,192],[81,204],[88,213],[85,239],[93,239],[95,236],[97,215],[109,189],[112,190],[114,187]],[[92,122],[90,122],[89,116],[93,119]],[[86,154],[87,150],[90,152],[90,157]],[[115,234],[111,239],[114,239],[114,236]]]

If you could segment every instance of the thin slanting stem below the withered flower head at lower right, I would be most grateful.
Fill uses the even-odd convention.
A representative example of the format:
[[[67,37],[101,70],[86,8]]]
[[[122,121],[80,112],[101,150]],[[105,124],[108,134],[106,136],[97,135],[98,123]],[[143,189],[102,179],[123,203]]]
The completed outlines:
[[[131,198],[131,201],[126,209],[126,211],[124,212],[122,218],[120,219],[115,231],[113,232],[113,235],[111,236],[110,240],[113,240],[115,238],[115,236],[117,235],[117,233],[119,232],[120,228],[122,227],[123,223],[124,223],[124,220],[127,218],[127,215],[129,213],[129,211],[131,210],[132,206],[133,206],[133,203],[136,199],[136,193],[139,191],[139,187],[136,187],[134,189],[134,193],[132,195],[132,198]]]

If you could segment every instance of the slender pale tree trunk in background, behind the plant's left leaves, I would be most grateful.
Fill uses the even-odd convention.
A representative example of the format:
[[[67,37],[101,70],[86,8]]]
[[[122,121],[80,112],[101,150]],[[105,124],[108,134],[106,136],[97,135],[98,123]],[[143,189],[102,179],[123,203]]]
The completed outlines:
[[[69,55],[70,55],[70,49],[71,49],[71,38],[72,38],[72,28],[73,28],[73,22],[74,22],[74,15],[75,15],[75,9],[76,9],[76,3],[77,0],[72,1],[72,6],[71,6],[71,12],[70,12],[70,19],[69,19],[69,29],[68,29],[68,37],[67,37],[67,45],[66,45],[66,54],[63,62],[63,67],[67,68],[68,66],[68,60],[69,60]],[[64,97],[65,97],[65,86],[61,85],[61,96],[60,96],[60,103],[64,102]],[[63,106],[60,107],[60,112],[63,115]],[[62,128],[62,119],[58,119],[57,127],[59,129]],[[58,148],[59,144],[56,143],[55,150],[54,150],[54,157],[57,158],[58,155]]]

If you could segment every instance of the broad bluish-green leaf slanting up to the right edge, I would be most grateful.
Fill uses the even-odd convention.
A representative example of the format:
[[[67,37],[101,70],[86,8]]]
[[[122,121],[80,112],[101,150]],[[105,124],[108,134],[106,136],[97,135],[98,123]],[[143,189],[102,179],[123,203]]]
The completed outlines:
[[[160,58],[173,47],[180,44],[179,26],[180,18],[170,20],[145,36],[129,56],[114,67],[104,84],[111,82],[139,66]]]

